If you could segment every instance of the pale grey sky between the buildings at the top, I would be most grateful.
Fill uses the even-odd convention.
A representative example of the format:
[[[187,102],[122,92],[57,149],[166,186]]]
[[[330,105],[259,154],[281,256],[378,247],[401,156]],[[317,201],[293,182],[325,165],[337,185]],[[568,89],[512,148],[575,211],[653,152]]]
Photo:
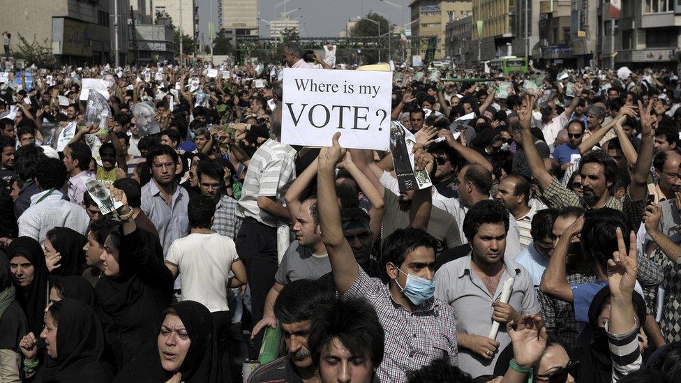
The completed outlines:
[[[215,0],[197,0],[199,6],[200,31],[208,39],[208,22],[210,20],[210,2]],[[223,0],[230,1],[230,0]],[[281,0],[260,0],[260,18],[262,20],[275,20],[284,7],[275,4]],[[301,8],[290,17],[300,17],[301,36],[333,37],[338,36],[338,31],[345,29],[345,23],[350,17],[366,15],[369,10],[388,15],[393,24],[405,24],[409,22],[410,0],[390,0],[392,3],[404,6],[403,9],[382,3],[380,0],[289,0],[286,3],[286,11]],[[214,13],[217,6],[214,3]],[[217,24],[217,22],[215,21]],[[269,37],[269,27],[264,22],[260,23],[260,36]]]

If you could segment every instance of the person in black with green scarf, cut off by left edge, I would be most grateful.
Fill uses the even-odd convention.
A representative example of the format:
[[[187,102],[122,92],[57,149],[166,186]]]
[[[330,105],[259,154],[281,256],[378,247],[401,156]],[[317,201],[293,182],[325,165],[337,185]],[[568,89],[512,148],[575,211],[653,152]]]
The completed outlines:
[[[21,355],[19,340],[27,331],[26,315],[15,300],[15,287],[10,277],[10,266],[0,253],[0,382],[19,379]]]

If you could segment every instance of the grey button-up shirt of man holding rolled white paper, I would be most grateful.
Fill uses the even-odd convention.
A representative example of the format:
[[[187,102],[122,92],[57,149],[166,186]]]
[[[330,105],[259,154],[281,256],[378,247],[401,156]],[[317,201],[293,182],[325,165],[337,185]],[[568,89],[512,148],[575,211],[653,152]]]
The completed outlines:
[[[494,296],[491,296],[482,280],[471,269],[471,257],[459,258],[444,264],[435,273],[435,298],[454,308],[457,330],[460,333],[488,336],[492,327],[492,303],[500,299],[502,286],[509,277],[514,277],[513,290],[509,305],[521,315],[539,313],[537,294],[534,292],[532,278],[520,264],[504,258],[506,269],[501,277]],[[511,344],[506,326],[499,326],[495,339],[500,343],[499,350]],[[491,374],[497,363],[500,351],[491,360],[483,359],[471,350],[459,348],[458,361],[461,370],[472,376]]]

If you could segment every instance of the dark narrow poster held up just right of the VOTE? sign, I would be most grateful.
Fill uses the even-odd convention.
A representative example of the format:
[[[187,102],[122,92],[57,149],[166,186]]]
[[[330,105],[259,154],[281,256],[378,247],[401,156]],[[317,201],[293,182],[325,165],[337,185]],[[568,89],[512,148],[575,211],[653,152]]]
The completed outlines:
[[[397,176],[400,192],[419,190],[433,186],[428,172],[414,170],[414,149],[416,139],[398,121],[392,121],[390,125],[390,152],[393,155],[393,165]]]

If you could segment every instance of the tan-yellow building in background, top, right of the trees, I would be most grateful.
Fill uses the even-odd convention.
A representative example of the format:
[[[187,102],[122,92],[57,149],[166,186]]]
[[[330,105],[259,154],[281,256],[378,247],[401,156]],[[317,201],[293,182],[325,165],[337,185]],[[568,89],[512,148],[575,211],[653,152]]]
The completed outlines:
[[[436,36],[435,60],[446,57],[445,35],[447,23],[462,19],[470,14],[470,1],[412,0],[411,9],[412,36]],[[415,22],[419,20],[418,22]],[[414,47],[412,47],[413,49]],[[428,46],[419,46],[412,52],[426,57]]]

